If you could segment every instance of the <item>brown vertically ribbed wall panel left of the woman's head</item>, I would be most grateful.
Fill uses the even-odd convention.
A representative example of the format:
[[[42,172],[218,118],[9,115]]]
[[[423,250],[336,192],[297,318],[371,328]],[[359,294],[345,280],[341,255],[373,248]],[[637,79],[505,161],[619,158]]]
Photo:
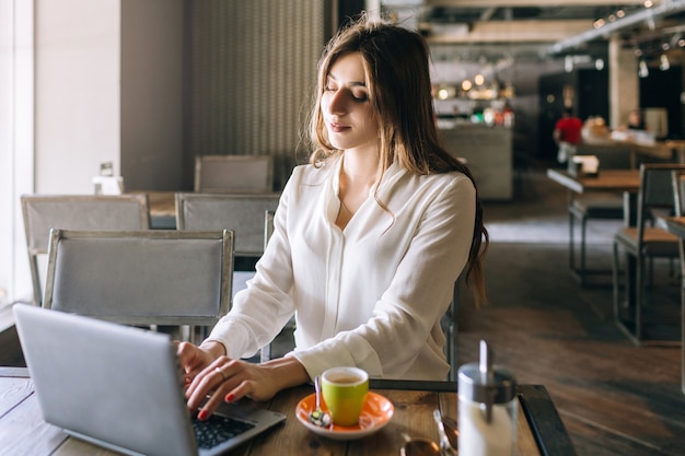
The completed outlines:
[[[271,154],[280,188],[295,159],[329,9],[321,0],[191,2],[186,163]]]

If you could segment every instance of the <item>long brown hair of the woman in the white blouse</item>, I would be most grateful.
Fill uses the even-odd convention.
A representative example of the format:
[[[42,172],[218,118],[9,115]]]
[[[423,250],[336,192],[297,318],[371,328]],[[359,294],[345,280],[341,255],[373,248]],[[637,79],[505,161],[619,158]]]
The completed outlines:
[[[318,62],[316,101],[310,121],[310,137],[314,145],[311,163],[318,166],[341,153],[328,140],[321,98],[330,67],[340,57],[352,52],[362,57],[369,101],[379,121],[379,178],[391,164],[397,162],[415,174],[458,171],[468,176],[476,187],[468,166],[440,145],[433,117],[428,44],[416,32],[370,19],[365,14],[338,31]],[[483,204],[476,187],[476,220],[466,281],[473,283],[477,303],[486,300],[481,259],[488,243]]]

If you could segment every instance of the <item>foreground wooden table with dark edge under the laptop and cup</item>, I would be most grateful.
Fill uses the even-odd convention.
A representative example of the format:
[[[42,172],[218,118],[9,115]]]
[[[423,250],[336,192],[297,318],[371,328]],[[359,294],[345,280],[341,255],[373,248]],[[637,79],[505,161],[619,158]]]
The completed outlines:
[[[395,406],[392,421],[378,433],[341,442],[318,436],[294,417],[297,404],[313,393],[301,386],[279,393],[265,404],[287,414],[285,424],[230,452],[231,455],[373,455],[397,456],[403,433],[437,441],[432,411],[456,417],[455,384],[450,382],[372,381],[371,389]],[[519,455],[574,456],[576,451],[559,414],[543,386],[519,386]],[[3,455],[98,455],[115,453],[70,437],[40,417],[33,384],[21,367],[0,367],[0,448]]]

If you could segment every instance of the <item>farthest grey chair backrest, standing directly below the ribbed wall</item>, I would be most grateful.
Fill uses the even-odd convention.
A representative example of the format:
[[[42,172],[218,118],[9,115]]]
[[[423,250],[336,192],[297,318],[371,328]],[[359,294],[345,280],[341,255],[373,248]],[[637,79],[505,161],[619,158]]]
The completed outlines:
[[[271,155],[199,155],[195,192],[268,194],[274,191]]]

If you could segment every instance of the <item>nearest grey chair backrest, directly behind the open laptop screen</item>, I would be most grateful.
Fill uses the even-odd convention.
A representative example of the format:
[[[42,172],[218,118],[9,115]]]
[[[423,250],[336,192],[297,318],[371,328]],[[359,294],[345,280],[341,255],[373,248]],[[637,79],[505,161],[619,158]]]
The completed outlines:
[[[230,231],[53,230],[44,307],[129,325],[214,325],[229,311]]]

